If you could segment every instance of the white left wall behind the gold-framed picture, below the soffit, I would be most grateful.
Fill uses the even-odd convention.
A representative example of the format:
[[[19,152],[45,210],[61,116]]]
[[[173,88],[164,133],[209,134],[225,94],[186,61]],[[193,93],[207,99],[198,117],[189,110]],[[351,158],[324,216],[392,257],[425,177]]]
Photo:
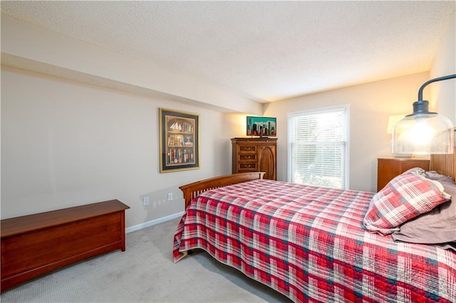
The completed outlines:
[[[200,169],[160,174],[160,107],[199,115]],[[223,129],[220,112],[2,66],[1,218],[110,199],[127,227],[179,213],[178,186],[231,173]]]

